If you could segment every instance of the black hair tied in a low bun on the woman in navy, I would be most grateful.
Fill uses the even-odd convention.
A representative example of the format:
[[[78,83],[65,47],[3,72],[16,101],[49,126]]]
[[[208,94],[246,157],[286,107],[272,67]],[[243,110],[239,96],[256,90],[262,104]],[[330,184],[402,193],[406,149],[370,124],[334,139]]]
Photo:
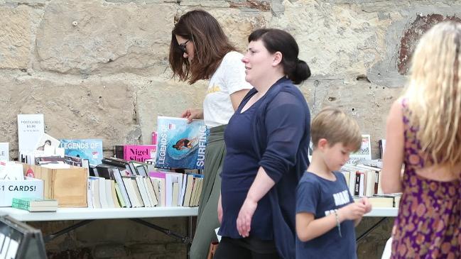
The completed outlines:
[[[248,37],[248,42],[261,40],[269,53],[282,53],[283,72],[293,84],[300,84],[310,77],[310,69],[306,62],[298,60],[299,48],[290,33],[274,28],[262,28]]]

